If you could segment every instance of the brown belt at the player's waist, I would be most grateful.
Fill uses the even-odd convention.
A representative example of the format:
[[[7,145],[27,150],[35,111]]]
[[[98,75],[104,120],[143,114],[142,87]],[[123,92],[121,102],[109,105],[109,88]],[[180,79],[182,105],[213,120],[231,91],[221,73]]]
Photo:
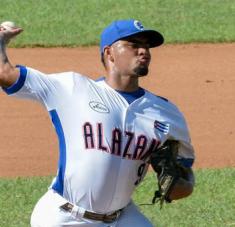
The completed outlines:
[[[71,203],[65,203],[64,205],[60,206],[60,208],[64,211],[68,211],[70,213],[72,213],[73,209],[74,209],[75,205],[71,204]],[[97,213],[93,213],[87,210],[84,210],[82,213],[82,217],[87,218],[87,219],[91,219],[91,220],[95,220],[95,221],[102,221],[105,223],[111,223],[117,220],[117,218],[119,217],[120,213],[121,213],[122,209],[117,210],[111,214],[97,214]]]

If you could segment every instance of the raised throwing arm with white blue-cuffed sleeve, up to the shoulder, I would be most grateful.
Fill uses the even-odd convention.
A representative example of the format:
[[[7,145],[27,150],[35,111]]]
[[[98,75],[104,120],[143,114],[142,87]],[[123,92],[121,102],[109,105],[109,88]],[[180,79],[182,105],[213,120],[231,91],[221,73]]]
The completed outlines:
[[[73,92],[74,73],[48,75],[29,67],[11,65],[6,46],[21,32],[21,28],[8,31],[0,26],[0,86],[3,91],[10,96],[38,101],[48,110],[66,103]]]

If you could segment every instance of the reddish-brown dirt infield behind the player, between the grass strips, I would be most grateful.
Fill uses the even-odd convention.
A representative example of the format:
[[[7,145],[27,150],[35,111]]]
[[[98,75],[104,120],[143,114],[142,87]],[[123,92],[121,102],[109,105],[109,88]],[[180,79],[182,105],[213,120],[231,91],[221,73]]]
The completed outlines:
[[[104,74],[98,47],[9,49],[14,64],[51,73]],[[235,43],[165,45],[152,50],[141,86],[169,98],[185,114],[195,168],[235,166]],[[0,94],[0,177],[54,175],[58,144],[37,103]]]

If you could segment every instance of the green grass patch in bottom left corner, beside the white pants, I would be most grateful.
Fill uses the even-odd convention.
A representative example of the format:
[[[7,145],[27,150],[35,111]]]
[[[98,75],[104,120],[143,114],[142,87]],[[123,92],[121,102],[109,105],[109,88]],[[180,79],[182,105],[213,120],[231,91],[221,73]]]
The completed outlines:
[[[28,227],[30,215],[51,177],[0,180],[0,227]]]

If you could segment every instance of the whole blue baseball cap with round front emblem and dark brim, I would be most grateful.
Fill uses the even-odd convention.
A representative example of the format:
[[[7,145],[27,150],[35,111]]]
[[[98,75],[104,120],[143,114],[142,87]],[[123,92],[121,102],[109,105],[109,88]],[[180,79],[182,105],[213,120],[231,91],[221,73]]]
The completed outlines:
[[[103,30],[100,39],[100,53],[103,54],[106,46],[111,46],[120,39],[136,34],[144,34],[148,38],[150,47],[160,46],[164,42],[161,33],[155,30],[145,29],[138,20],[117,20]]]

